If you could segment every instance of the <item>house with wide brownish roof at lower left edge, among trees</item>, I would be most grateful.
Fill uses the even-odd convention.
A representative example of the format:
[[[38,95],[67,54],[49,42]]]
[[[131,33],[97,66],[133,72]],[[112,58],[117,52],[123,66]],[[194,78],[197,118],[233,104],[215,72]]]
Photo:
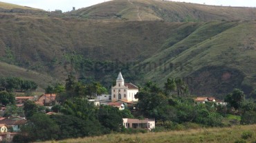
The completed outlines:
[[[0,124],[6,124],[8,129],[14,132],[19,132],[21,125],[26,124],[27,120],[20,117],[10,117],[0,120]]]

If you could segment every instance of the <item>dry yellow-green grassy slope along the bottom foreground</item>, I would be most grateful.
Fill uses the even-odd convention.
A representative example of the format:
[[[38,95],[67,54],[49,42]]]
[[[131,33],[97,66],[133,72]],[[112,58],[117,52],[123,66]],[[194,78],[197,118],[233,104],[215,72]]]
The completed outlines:
[[[49,141],[44,143],[89,143],[89,142],[104,142],[104,143],[119,143],[119,142],[174,142],[174,143],[196,143],[196,142],[211,142],[211,143],[234,143],[241,140],[241,135],[245,131],[253,133],[252,137],[246,139],[246,142],[256,142],[256,125],[248,126],[232,126],[228,128],[211,128],[211,129],[191,129],[186,131],[170,131],[161,133],[139,133],[139,134],[119,134],[112,133],[110,135],[102,135],[99,137],[84,137],[78,139],[68,139],[62,141]]]

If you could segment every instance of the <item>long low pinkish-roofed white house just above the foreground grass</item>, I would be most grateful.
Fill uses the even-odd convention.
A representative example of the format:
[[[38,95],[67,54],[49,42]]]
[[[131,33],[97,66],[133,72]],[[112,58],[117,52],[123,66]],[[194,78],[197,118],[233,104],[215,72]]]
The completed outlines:
[[[155,128],[155,120],[145,118],[144,120],[139,119],[131,119],[131,118],[122,118],[123,125],[125,128],[131,129],[154,129]]]

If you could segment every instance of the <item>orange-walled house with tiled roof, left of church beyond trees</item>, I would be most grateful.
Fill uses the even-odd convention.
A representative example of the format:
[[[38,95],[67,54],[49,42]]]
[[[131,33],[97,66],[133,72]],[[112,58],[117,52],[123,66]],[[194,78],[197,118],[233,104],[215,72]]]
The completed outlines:
[[[56,94],[43,94],[39,96],[35,104],[39,104],[42,106],[51,106],[55,104]]]

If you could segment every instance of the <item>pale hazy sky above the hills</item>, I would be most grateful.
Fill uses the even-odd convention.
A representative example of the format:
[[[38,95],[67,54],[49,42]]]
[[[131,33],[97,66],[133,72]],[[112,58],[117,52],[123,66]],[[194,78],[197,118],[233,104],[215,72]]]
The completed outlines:
[[[90,5],[95,5],[109,0],[0,0],[6,3],[14,3],[18,5],[26,5],[33,8],[40,8],[43,10],[62,10],[63,12],[72,10],[72,7],[86,8]],[[205,3],[208,5],[226,5],[226,6],[246,6],[256,7],[255,0],[174,0],[185,1],[191,3]]]

